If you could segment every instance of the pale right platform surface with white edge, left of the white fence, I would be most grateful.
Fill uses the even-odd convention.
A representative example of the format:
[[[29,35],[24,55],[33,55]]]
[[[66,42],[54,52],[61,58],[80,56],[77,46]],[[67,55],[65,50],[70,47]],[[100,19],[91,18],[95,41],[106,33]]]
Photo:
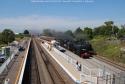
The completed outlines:
[[[77,61],[72,61],[74,62],[74,65],[71,64],[69,61],[67,61],[66,59],[68,58],[64,58],[63,56],[61,56],[60,51],[58,51],[56,48],[52,48],[51,51],[49,51],[48,49],[48,44],[42,44],[41,46],[44,47],[44,49],[51,55],[51,57],[63,68],[63,70],[65,70],[65,72],[78,84],[81,84],[81,77],[80,75],[82,74],[81,71],[79,71],[77,69]]]

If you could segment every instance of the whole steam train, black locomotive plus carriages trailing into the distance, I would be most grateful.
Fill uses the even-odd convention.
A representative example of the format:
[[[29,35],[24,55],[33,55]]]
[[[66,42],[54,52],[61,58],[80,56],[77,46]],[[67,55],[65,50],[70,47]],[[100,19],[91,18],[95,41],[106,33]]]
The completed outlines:
[[[96,55],[92,45],[86,40],[74,41],[46,36],[42,36],[41,38],[47,41],[56,39],[56,41],[60,43],[60,46],[74,52],[82,58],[89,58]]]

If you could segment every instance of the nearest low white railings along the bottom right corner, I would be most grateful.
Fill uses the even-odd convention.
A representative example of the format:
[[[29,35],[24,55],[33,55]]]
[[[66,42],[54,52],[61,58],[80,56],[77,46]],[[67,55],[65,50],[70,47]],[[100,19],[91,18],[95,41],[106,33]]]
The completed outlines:
[[[125,84],[125,76],[122,74],[112,74],[101,77],[81,74],[80,78],[81,84]]]

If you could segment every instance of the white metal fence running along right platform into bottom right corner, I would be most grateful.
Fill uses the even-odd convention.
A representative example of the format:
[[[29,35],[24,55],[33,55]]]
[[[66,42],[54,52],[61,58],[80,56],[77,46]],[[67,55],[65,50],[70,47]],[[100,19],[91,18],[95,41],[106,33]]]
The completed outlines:
[[[48,44],[46,44],[46,47]],[[73,57],[70,57],[64,53],[58,52],[56,48],[53,48],[55,52],[64,57],[69,63],[73,66],[76,66],[77,60]],[[81,84],[125,84],[125,72],[111,74],[101,68],[89,68],[84,64],[81,64],[81,74],[80,74],[80,82]],[[103,67],[103,66],[102,66]]]

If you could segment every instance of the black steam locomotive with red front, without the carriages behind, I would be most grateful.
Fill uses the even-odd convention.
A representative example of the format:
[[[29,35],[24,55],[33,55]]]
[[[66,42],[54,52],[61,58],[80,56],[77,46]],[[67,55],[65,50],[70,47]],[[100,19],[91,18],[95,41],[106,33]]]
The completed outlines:
[[[60,41],[60,45],[79,55],[81,58],[89,58],[96,55],[92,45],[87,41]]]

